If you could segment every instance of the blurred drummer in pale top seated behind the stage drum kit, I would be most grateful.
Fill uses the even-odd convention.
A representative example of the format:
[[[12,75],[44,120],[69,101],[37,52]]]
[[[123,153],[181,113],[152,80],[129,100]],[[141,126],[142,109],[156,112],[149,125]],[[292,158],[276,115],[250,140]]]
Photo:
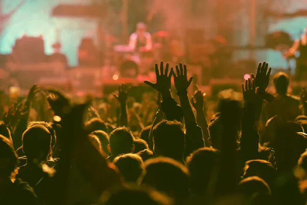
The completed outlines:
[[[137,31],[130,35],[129,47],[136,53],[151,50],[151,35],[146,32],[146,24],[142,22],[137,24]]]

